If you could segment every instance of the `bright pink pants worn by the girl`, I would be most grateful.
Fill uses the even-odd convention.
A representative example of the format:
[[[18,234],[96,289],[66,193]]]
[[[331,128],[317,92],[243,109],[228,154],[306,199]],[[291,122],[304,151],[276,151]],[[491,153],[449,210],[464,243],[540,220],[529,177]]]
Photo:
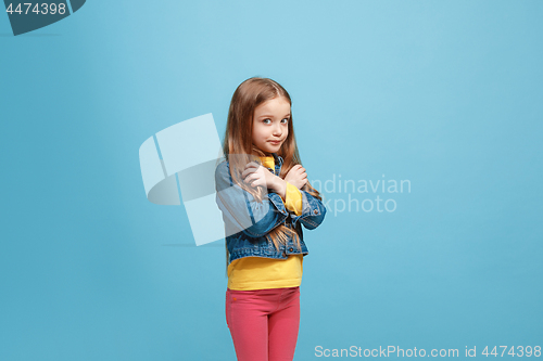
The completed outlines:
[[[226,323],[238,361],[292,361],[300,287],[226,291]]]

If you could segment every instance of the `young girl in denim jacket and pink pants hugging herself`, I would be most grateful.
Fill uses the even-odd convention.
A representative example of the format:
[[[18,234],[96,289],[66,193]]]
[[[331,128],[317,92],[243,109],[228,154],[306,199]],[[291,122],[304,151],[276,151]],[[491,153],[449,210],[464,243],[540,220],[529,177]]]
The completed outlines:
[[[240,361],[292,360],[300,325],[302,227],[326,208],[307,181],[289,93],[250,78],[236,89],[215,171],[226,231],[226,322]]]

